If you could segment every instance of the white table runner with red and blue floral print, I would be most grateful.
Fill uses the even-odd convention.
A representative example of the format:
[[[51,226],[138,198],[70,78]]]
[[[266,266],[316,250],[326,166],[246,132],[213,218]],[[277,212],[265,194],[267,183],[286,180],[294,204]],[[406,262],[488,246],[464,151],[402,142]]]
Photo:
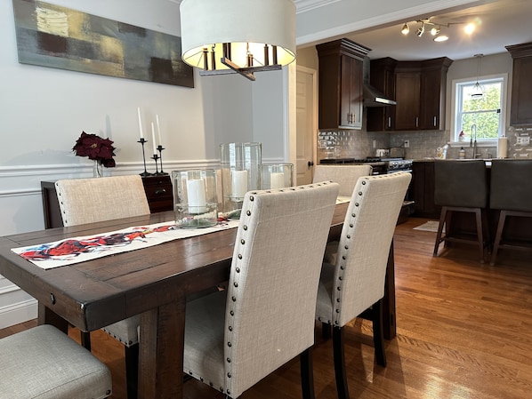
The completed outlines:
[[[52,243],[12,248],[12,251],[38,267],[49,269],[233,227],[238,227],[238,220],[224,220],[214,227],[194,229],[179,228],[173,222],[164,222],[144,227],[127,227],[99,235],[85,235]]]

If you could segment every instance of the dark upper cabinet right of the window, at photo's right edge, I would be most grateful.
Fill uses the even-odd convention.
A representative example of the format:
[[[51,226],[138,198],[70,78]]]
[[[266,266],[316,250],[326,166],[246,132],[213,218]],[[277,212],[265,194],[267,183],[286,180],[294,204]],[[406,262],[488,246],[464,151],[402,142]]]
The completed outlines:
[[[532,43],[508,45],[506,50],[513,59],[510,124],[529,125],[532,124]]]

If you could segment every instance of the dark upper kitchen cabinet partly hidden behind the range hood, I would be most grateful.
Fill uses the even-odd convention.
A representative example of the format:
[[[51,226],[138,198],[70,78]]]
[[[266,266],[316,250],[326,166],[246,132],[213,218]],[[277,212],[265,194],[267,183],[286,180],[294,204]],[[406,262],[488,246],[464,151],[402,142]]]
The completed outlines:
[[[392,100],[395,95],[395,67],[397,60],[386,57],[371,60],[369,83]],[[367,108],[367,132],[393,131],[395,127],[395,106]]]

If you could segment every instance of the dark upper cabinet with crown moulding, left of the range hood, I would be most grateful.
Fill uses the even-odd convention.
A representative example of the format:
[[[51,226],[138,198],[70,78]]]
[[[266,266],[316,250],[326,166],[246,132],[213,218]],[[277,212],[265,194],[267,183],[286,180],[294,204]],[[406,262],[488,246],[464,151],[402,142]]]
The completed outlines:
[[[370,51],[349,39],[318,44],[318,128],[361,129],[363,60]]]

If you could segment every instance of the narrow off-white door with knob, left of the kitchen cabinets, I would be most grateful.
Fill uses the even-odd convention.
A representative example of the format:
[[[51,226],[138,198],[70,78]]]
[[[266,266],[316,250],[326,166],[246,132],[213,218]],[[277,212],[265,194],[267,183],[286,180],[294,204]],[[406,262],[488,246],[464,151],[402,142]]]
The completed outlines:
[[[312,182],[317,134],[317,71],[297,67],[296,74],[296,185]]]

